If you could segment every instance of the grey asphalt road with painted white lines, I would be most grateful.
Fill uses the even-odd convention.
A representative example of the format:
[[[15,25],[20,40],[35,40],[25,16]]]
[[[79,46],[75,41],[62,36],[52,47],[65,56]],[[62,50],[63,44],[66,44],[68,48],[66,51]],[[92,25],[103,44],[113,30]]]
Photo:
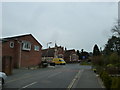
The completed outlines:
[[[35,70],[17,69],[3,88],[103,88],[91,66],[56,65]]]

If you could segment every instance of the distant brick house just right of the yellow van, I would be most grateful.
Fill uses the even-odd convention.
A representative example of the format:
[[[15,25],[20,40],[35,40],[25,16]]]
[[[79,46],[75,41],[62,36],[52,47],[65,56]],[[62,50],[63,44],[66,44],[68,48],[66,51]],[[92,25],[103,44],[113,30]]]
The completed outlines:
[[[70,62],[77,62],[79,59],[76,51],[73,49],[73,50],[65,50],[64,52],[64,60],[67,62],[67,63],[70,63]]]

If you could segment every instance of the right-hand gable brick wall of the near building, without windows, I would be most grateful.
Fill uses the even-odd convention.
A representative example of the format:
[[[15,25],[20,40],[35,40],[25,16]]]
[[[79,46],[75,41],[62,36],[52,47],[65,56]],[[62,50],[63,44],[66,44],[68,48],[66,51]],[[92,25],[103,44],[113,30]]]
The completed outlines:
[[[21,37],[19,40],[30,41],[32,44],[30,51],[21,51],[21,66],[35,66],[41,63],[41,46],[39,43],[31,36]],[[34,45],[39,46],[40,50],[35,51]]]

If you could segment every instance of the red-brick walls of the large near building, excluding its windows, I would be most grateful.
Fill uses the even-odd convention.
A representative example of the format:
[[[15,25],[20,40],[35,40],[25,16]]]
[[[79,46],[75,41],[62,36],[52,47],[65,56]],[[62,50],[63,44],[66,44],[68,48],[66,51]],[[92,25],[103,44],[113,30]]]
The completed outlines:
[[[21,41],[29,41],[31,43],[31,50],[21,50],[20,51],[20,43]],[[9,44],[10,41],[14,42],[14,48],[10,48]],[[13,58],[13,66],[14,67],[28,67],[28,66],[35,66],[41,63],[41,48],[42,46],[36,41],[36,39],[31,36],[23,36],[19,37],[16,40],[11,39],[8,42],[3,43],[2,45],[2,56],[12,56]],[[34,50],[34,45],[40,47],[39,51]]]

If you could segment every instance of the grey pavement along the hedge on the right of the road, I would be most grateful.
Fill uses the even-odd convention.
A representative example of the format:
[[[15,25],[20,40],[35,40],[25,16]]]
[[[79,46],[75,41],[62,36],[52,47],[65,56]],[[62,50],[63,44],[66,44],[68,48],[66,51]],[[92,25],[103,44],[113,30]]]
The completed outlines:
[[[89,73],[89,74],[88,74]],[[98,75],[90,69],[83,70],[79,76],[78,82],[74,85],[75,88],[104,88]]]

